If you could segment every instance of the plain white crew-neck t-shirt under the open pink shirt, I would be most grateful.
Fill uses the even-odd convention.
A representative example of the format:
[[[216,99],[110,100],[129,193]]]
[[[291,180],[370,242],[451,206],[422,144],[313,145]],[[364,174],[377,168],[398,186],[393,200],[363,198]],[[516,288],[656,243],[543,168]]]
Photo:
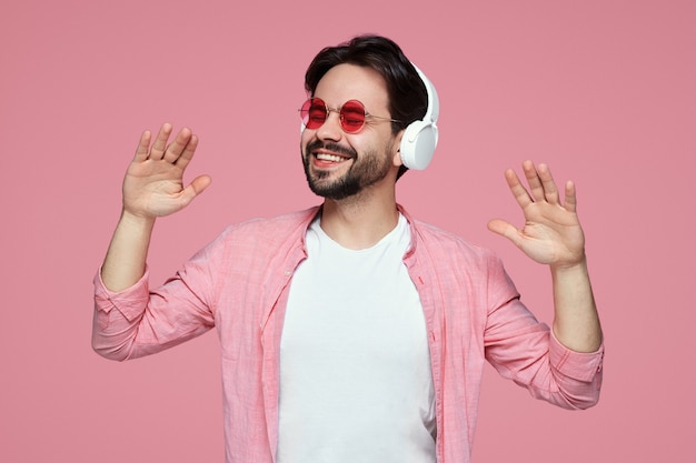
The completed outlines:
[[[435,394],[410,230],[365,250],[316,220],[280,343],[279,463],[434,463]]]

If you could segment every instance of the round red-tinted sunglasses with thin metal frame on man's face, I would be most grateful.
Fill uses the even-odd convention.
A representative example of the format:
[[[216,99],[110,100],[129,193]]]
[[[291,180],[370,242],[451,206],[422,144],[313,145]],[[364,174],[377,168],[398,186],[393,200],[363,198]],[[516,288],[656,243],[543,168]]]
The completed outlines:
[[[337,112],[340,127],[346,133],[357,133],[365,125],[365,121],[370,119],[381,119],[390,122],[400,122],[396,119],[374,115],[365,110],[365,105],[358,100],[346,101],[340,108],[329,108],[320,98],[310,98],[302,103],[299,109],[300,118],[307,129],[320,128],[330,112]]]

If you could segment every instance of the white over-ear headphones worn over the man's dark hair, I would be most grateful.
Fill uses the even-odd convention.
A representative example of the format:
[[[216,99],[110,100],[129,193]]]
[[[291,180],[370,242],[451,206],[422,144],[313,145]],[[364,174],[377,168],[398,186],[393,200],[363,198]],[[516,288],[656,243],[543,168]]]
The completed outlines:
[[[411,63],[412,64],[412,63]],[[409,169],[424,170],[428,167],[437,147],[438,131],[437,118],[440,113],[440,100],[437,97],[435,85],[428,80],[416,64],[414,64],[420,80],[428,92],[428,110],[419,121],[414,121],[406,128],[399,147],[401,162]]]

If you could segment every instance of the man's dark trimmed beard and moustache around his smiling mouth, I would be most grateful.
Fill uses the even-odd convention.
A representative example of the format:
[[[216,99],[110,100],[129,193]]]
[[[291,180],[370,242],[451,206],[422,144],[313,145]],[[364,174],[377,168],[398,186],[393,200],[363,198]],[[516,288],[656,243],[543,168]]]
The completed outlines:
[[[311,171],[311,152],[318,148],[326,148],[329,151],[348,155],[352,159],[352,165],[342,177],[329,180],[334,172],[312,172]],[[315,140],[307,144],[305,155],[302,155],[302,164],[305,167],[305,175],[309,189],[317,195],[330,200],[344,200],[354,197],[366,188],[382,180],[389,173],[391,163],[388,153],[391,152],[389,143],[382,153],[377,150],[370,150],[362,154],[351,148],[342,147],[338,143],[322,143]]]

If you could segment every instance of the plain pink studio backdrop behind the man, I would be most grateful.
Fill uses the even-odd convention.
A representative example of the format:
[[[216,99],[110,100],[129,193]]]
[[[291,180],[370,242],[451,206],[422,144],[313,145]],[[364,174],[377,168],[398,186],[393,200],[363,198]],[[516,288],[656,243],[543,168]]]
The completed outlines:
[[[477,462],[693,462],[696,3],[3,1],[0,461],[220,462],[215,333],[113,363],[90,348],[91,279],[143,129],[200,135],[213,183],[159,222],[162,281],[221,229],[316,204],[299,162],[304,71],[356,33],[395,39],[441,99],[412,214],[495,249],[539,319],[548,271],[489,233],[520,221],[503,171],[574,179],[606,332],[603,397],[537,402],[486,371]]]

